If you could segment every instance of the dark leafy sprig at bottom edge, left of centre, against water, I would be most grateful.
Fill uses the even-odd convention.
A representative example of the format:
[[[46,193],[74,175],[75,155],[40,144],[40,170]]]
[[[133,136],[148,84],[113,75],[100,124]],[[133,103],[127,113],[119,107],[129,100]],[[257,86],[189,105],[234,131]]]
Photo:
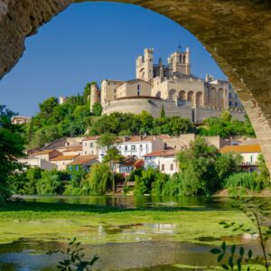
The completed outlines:
[[[65,259],[58,263],[57,267],[61,271],[74,270],[74,268],[77,271],[91,270],[92,266],[98,260],[98,256],[92,257],[90,261],[85,260],[84,248],[81,248],[80,245],[81,243],[77,242],[76,238],[69,239],[69,247],[66,249],[66,251],[61,249],[50,250],[47,252],[47,255],[51,256],[55,253],[61,253],[66,256]]]

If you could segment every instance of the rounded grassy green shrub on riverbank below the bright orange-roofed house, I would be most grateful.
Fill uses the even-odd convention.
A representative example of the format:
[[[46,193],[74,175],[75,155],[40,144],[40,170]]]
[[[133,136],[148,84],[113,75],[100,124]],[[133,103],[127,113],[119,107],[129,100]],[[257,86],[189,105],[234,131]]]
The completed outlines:
[[[259,192],[263,187],[256,180],[255,173],[235,173],[231,174],[224,181],[224,188],[229,188],[229,193],[237,196],[246,194],[247,190]]]

